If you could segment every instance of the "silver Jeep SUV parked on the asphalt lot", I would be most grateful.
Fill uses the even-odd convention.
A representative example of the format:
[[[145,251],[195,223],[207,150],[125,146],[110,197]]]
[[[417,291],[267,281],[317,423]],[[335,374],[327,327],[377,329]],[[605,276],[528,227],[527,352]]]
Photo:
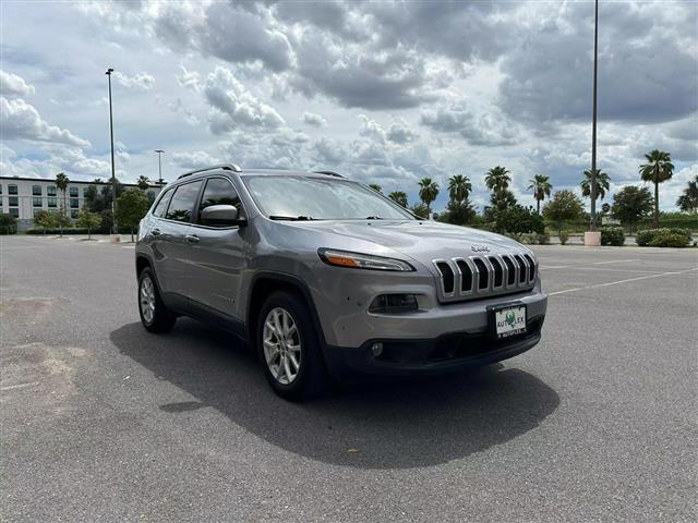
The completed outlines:
[[[525,246],[419,219],[334,172],[182,174],[143,218],[135,262],[147,330],[180,315],[224,327],[291,400],[328,376],[512,357],[539,342],[547,304]]]

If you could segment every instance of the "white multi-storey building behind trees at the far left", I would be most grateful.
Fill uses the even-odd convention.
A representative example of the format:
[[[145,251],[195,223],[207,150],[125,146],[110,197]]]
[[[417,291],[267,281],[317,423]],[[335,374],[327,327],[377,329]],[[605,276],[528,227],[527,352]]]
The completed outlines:
[[[43,178],[0,177],[0,214],[8,214],[17,220],[17,230],[34,227],[34,214],[38,210],[60,210],[63,206],[71,219],[85,205],[85,192],[89,186],[100,190],[109,183],[74,182],[68,183],[65,194],[56,186],[56,180]],[[122,183],[125,188],[137,187]],[[110,186],[110,185],[109,185]],[[159,185],[145,190],[148,199],[154,200],[160,192]],[[64,199],[63,199],[64,198]]]

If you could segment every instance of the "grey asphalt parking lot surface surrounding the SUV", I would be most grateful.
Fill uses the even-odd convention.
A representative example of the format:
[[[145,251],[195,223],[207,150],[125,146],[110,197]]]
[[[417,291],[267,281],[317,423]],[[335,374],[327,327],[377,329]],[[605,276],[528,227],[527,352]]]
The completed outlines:
[[[133,247],[0,236],[0,519],[696,521],[698,251],[534,247],[543,341],[467,375],[278,399]]]

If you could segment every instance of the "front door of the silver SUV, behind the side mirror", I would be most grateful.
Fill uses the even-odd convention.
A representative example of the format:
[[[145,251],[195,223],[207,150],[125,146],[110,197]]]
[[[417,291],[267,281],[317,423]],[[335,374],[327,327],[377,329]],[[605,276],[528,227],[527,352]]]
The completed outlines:
[[[232,182],[226,177],[210,177],[202,192],[195,223],[190,234],[195,238],[190,250],[188,294],[198,306],[209,312],[237,318],[239,292],[244,270],[246,229],[244,227],[212,227],[198,221],[201,211],[210,205],[233,205],[245,211]]]

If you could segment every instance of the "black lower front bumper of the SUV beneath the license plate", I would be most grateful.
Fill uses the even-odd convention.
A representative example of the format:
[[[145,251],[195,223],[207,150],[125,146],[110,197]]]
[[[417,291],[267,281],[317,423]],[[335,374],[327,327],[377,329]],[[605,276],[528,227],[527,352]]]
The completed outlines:
[[[433,339],[373,339],[359,348],[328,345],[325,361],[336,378],[349,376],[394,376],[442,374],[488,365],[516,356],[533,348],[541,339],[545,316],[530,317],[527,332],[520,337],[494,341],[486,332],[458,331]],[[383,353],[374,356],[371,348],[383,343]]]

